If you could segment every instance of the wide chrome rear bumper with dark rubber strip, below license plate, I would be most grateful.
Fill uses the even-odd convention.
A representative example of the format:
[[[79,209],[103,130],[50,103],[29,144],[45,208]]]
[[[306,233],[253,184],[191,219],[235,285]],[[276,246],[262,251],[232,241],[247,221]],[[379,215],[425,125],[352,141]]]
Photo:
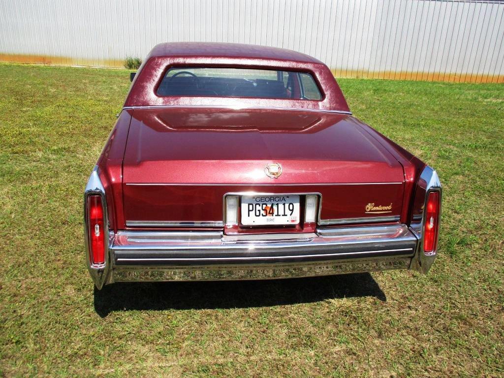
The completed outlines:
[[[417,237],[406,225],[324,228],[310,234],[119,231],[100,283],[271,279],[408,269]],[[90,267],[92,269],[92,267]],[[93,277],[95,277],[92,274]]]

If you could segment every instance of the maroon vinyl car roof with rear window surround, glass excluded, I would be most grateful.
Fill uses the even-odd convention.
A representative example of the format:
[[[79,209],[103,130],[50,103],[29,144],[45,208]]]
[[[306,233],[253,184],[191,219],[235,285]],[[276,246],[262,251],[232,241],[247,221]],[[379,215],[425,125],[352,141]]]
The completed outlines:
[[[323,98],[253,98],[233,96],[161,96],[156,89],[171,67],[240,67],[306,72],[317,82]],[[140,66],[124,107],[240,106],[330,110],[348,113],[348,104],[331,70],[320,60],[283,48],[239,43],[171,42],[154,46]]]

